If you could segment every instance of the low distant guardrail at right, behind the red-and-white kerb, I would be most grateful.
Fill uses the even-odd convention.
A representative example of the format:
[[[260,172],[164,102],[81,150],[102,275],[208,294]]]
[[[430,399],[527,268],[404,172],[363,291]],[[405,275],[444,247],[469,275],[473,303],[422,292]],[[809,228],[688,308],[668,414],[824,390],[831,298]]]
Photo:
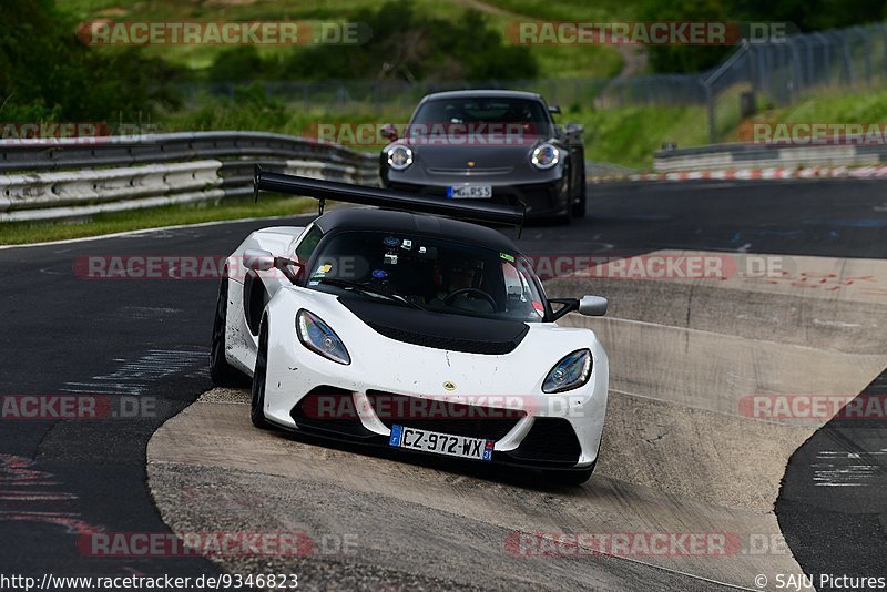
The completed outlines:
[[[653,169],[662,173],[712,169],[794,169],[804,166],[873,165],[887,162],[887,145],[712,144],[661,150]]]

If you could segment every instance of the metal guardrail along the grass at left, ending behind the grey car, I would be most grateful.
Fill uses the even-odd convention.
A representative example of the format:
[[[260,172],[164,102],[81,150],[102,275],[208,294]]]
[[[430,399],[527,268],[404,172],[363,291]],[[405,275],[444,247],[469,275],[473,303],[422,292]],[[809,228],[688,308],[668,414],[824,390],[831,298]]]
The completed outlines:
[[[264,132],[0,141],[0,222],[252,194],[253,166],[378,185],[378,157]]]

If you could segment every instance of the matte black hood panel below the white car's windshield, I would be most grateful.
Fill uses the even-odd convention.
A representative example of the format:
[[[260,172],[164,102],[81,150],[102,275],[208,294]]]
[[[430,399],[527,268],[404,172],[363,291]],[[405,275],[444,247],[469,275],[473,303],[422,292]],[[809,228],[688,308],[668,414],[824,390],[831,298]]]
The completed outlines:
[[[430,313],[347,297],[339,302],[376,333],[435,349],[501,356],[513,351],[530,330],[520,320]]]

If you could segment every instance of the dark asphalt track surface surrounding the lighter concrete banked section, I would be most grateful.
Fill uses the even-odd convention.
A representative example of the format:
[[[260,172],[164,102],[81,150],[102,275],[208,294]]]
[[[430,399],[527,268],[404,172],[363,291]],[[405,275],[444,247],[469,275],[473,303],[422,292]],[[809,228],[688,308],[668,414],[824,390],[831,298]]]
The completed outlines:
[[[887,197],[878,181],[613,184],[592,186],[589,194],[592,217],[568,227],[528,226],[521,248],[887,258]],[[212,386],[205,357],[216,282],[92,280],[77,277],[73,267],[89,255],[221,256],[268,224],[236,222],[0,251],[0,394],[108,394],[141,398],[155,409],[154,417],[125,419],[2,420],[0,571],[218,573],[201,558],[90,558],[73,543],[77,533],[98,529],[169,531],[145,484],[145,447],[166,419]],[[868,392],[886,388],[881,376]],[[883,420],[867,428],[833,421],[788,466],[776,513],[807,573],[871,575],[884,569],[887,430]],[[813,488],[812,459],[836,441],[861,453],[874,467],[873,482],[881,487]],[[625,576],[650,576],[640,568],[613,568],[620,569]],[[690,586],[680,576],[657,578],[663,586]]]

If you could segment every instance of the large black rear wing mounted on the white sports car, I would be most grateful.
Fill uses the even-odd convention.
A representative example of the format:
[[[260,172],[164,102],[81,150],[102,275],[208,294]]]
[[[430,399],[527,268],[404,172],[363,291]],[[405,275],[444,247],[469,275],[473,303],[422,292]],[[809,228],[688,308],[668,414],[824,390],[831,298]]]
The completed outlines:
[[[434,214],[470,222],[523,225],[523,206],[479,204],[404,191],[353,185],[337,181],[285,175],[283,173],[263,171],[262,167],[256,165],[253,174],[253,193],[256,200],[258,200],[258,193],[262,191],[314,197],[320,202],[320,213],[324,211],[324,203],[329,200],[359,205],[374,205],[384,210]]]

